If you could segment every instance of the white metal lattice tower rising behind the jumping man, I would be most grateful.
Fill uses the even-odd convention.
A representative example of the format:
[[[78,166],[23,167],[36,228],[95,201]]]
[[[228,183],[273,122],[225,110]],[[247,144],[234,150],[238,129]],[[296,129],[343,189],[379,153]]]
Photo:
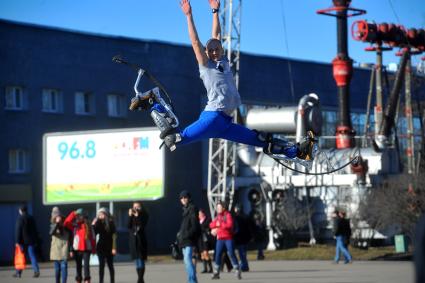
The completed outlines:
[[[225,0],[220,11],[221,37],[227,58],[239,87],[239,58],[241,38],[242,0]],[[233,113],[233,120],[237,118]],[[236,144],[222,139],[209,140],[208,153],[208,203],[211,216],[215,215],[219,200],[233,203],[236,178]]]

